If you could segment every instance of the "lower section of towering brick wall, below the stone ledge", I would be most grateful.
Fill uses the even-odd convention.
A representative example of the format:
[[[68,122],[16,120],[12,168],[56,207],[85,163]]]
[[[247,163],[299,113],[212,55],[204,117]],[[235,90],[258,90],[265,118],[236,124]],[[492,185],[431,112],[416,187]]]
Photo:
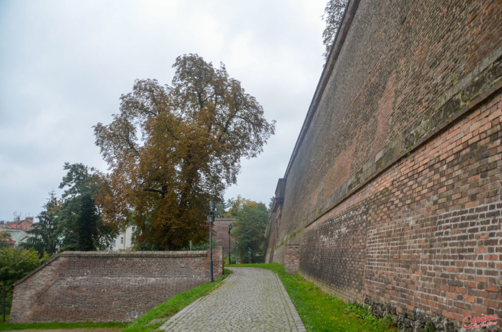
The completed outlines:
[[[501,116],[497,93],[307,227],[300,273],[408,329],[502,317]]]

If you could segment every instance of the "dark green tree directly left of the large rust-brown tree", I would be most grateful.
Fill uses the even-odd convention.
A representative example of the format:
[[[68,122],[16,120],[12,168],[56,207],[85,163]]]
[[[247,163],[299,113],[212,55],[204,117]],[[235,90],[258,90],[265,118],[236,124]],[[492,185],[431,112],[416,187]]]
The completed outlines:
[[[65,162],[68,173],[59,185],[68,187],[62,195],[59,218],[63,235],[61,250],[105,250],[115,236],[113,225],[103,222],[94,197],[99,190],[97,178],[81,163]]]

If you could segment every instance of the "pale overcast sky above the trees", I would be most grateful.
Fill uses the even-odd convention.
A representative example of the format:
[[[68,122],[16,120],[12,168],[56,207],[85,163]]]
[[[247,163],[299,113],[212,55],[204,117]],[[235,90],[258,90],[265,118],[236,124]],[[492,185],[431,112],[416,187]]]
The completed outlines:
[[[0,0],[0,220],[60,196],[65,161],[106,170],[92,126],[135,79],[170,84],[188,53],[223,62],[277,120],[225,193],[268,205],[322,72],[326,2]]]

